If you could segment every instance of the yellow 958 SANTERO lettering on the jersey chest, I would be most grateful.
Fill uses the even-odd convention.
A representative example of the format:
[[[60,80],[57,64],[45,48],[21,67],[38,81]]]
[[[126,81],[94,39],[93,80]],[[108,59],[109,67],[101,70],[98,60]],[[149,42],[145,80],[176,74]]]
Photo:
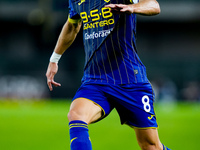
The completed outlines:
[[[88,28],[103,27],[115,23],[114,19],[112,18],[113,14],[110,12],[110,8],[106,7],[103,7],[101,11],[98,9],[91,10],[89,14],[87,14],[87,12],[81,12],[80,16],[84,23],[84,30]],[[103,17],[104,20],[100,21],[101,17]]]

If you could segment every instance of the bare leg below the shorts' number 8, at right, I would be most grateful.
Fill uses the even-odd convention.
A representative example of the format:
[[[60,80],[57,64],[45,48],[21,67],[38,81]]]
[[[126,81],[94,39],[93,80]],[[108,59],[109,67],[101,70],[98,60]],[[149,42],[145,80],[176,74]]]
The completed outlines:
[[[157,149],[162,148],[158,131],[156,128],[140,129],[134,128],[138,144],[140,147],[147,147],[154,145]]]

